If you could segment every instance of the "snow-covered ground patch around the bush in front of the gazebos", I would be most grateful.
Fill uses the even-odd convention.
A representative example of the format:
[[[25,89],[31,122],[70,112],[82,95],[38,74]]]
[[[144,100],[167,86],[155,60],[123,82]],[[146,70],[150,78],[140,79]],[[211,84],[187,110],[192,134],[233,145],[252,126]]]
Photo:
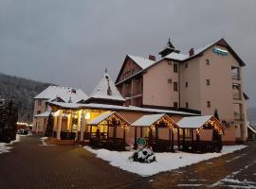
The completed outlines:
[[[176,153],[155,153],[155,163],[135,163],[129,161],[132,156],[132,151],[110,151],[107,149],[92,149],[89,146],[84,146],[88,151],[96,154],[98,158],[109,162],[113,166],[117,166],[123,170],[137,173],[143,177],[155,175],[159,172],[170,171],[182,166],[190,165],[192,163],[199,163],[211,158],[220,157],[224,154],[242,149],[246,146],[223,146],[221,153],[205,153],[205,154],[192,154],[185,152]]]

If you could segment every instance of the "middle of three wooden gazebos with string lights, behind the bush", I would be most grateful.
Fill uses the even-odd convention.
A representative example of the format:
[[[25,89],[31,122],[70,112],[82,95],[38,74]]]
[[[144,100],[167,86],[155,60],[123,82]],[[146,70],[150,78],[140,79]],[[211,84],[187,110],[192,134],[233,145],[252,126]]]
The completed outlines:
[[[167,114],[143,115],[132,126],[135,127],[135,141],[137,138],[146,138],[148,146],[152,146],[154,151],[174,151],[174,129],[177,129],[177,125]],[[168,138],[159,134],[160,129],[166,129],[163,135],[167,134]]]

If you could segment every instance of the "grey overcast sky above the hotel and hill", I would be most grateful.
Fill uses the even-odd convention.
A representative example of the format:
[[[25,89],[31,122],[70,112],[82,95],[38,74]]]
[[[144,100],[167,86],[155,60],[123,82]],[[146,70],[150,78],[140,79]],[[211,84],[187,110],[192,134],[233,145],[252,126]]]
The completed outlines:
[[[225,38],[247,63],[244,91],[256,106],[256,1],[0,0],[0,72],[90,94],[126,54],[148,57],[168,38],[187,53]]]

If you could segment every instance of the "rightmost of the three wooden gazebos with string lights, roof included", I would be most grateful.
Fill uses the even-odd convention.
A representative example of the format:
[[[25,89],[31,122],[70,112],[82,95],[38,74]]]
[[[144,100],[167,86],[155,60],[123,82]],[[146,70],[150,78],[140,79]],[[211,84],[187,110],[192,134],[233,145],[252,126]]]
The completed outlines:
[[[226,128],[214,116],[184,117],[177,122],[177,126],[179,127],[177,132],[177,144],[179,149],[181,149],[182,145],[183,150],[195,152],[221,151],[221,135],[224,134]],[[204,133],[207,130],[212,130],[212,132]],[[186,134],[189,136],[186,136]],[[206,141],[201,139],[204,134],[211,134],[211,136],[208,136],[211,140]],[[181,138],[182,143],[180,143]]]

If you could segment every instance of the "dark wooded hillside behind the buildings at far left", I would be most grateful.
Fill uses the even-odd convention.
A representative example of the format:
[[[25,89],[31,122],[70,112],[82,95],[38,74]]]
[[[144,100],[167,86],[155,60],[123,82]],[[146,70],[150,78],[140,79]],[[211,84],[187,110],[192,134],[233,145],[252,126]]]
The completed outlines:
[[[0,98],[13,98],[19,107],[19,121],[31,123],[33,119],[33,97],[46,89],[49,83],[0,73]]]

